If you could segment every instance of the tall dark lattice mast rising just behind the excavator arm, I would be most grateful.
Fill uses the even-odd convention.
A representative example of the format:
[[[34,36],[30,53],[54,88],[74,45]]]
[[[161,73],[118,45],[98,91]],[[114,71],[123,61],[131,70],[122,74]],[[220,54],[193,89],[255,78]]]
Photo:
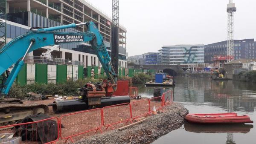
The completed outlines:
[[[119,54],[119,0],[112,0],[111,63],[118,74]]]

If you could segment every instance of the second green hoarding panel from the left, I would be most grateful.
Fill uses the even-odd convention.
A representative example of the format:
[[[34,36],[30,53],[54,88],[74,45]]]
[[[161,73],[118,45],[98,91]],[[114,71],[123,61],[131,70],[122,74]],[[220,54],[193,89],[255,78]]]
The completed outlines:
[[[35,82],[39,84],[47,84],[47,64],[35,63]]]

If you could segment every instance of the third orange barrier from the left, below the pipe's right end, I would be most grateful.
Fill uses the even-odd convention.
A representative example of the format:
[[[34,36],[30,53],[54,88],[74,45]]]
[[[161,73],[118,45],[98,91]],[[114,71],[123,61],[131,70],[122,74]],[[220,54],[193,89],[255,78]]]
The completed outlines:
[[[119,124],[122,122],[131,122],[131,107],[129,103],[116,104],[113,106],[102,108],[102,123],[106,128],[111,127],[113,130],[114,124]]]

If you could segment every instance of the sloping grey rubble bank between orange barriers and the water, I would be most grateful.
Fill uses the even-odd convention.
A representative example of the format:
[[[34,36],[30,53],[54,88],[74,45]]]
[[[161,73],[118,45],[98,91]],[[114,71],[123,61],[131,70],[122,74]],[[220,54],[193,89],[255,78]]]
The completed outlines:
[[[141,124],[126,130],[111,130],[103,134],[81,139],[76,144],[143,144],[151,143],[162,135],[176,130],[184,123],[188,113],[181,104],[173,103],[164,108],[164,112],[150,116]]]

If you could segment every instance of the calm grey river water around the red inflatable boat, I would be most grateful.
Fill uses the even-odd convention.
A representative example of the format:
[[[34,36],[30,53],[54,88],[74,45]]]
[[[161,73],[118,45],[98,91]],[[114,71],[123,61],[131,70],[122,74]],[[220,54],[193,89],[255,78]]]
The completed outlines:
[[[180,129],[158,138],[153,144],[256,144],[256,85],[186,77],[176,77],[175,82],[174,101],[183,104],[190,113],[236,112],[239,115],[249,115],[254,123],[186,123]],[[153,96],[153,88],[144,85],[138,87],[142,96]],[[167,90],[168,88],[163,89]]]

